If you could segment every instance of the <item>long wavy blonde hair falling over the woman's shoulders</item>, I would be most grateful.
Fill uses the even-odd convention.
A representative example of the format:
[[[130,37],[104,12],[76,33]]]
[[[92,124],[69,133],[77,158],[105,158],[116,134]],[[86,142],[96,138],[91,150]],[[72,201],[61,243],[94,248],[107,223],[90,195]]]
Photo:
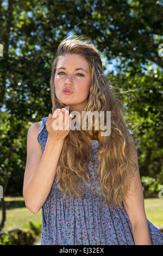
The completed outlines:
[[[75,130],[68,133],[60,154],[57,174],[58,185],[66,198],[67,192],[73,199],[74,196],[83,196],[83,182],[90,186],[90,173],[87,168],[91,161],[91,151],[88,137],[100,143],[98,149],[98,172],[100,177],[99,190],[106,202],[111,205],[121,206],[124,196],[129,188],[129,179],[136,170],[136,164],[131,161],[131,145],[128,129],[124,123],[125,114],[122,101],[114,94],[114,88],[103,74],[101,57],[91,39],[85,36],[77,38],[65,38],[59,45],[57,57],[53,61],[51,74],[51,99],[52,114],[57,108],[66,105],[60,102],[55,95],[54,76],[60,56],[64,54],[79,54],[84,57],[90,65],[91,84],[87,104],[83,111],[111,111],[111,133],[109,136],[101,136],[101,129],[95,130],[93,120],[92,130]],[[106,125],[106,123],[105,123]]]

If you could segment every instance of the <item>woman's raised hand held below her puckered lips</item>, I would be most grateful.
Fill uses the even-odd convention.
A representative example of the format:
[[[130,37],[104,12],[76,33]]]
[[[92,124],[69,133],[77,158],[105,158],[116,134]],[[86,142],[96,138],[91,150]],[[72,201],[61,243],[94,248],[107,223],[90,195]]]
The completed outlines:
[[[53,116],[52,114],[49,114],[45,124],[48,131],[48,137],[53,139],[54,142],[64,141],[65,137],[70,132],[70,122],[72,118],[73,115],[69,115],[65,108],[56,109]]]

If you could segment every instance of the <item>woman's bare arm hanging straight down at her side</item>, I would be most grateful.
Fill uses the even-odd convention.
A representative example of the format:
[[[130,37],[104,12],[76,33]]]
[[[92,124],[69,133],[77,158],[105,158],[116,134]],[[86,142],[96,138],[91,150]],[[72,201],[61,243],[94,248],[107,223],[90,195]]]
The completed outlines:
[[[133,147],[130,149],[132,155],[131,158],[132,161],[136,163],[137,169],[134,177],[130,180],[130,188],[128,195],[124,198],[123,205],[130,218],[135,245],[151,245],[151,237],[148,229],[143,190],[139,173],[137,150],[132,136],[130,136],[130,141],[133,144]]]

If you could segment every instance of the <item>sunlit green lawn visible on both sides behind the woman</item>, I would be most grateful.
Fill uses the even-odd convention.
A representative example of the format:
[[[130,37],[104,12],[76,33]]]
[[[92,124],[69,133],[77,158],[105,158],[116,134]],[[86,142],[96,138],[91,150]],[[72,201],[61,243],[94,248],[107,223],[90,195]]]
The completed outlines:
[[[41,209],[37,214],[30,212],[24,204],[23,197],[5,197],[7,208],[6,222],[3,230],[15,227],[28,229],[29,222],[36,224],[42,222]],[[147,198],[145,199],[145,210],[147,219],[154,225],[163,225],[163,199]],[[0,208],[0,219],[2,210]]]

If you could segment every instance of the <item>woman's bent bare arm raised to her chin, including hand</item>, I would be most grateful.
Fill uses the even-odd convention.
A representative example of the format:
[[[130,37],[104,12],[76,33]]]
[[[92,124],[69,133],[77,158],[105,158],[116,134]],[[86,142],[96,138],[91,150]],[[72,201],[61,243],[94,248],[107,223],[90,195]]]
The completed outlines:
[[[57,111],[57,110],[56,110]],[[64,144],[64,139],[70,130],[54,130],[53,121],[63,114],[65,123],[65,112],[60,110],[56,117],[48,117],[46,129],[48,138],[45,150],[37,141],[39,126],[37,123],[31,125],[27,133],[27,162],[24,173],[23,197],[27,208],[36,214],[45,203],[51,191],[57,165]],[[69,116],[68,121],[72,117]]]

